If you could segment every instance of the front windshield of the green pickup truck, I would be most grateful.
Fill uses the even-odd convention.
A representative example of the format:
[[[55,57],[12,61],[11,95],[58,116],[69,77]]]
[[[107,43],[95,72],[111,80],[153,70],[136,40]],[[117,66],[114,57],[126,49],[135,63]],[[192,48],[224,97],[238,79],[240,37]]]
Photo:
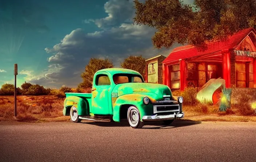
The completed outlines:
[[[115,84],[144,82],[143,78],[136,74],[115,74],[113,75],[113,81]]]

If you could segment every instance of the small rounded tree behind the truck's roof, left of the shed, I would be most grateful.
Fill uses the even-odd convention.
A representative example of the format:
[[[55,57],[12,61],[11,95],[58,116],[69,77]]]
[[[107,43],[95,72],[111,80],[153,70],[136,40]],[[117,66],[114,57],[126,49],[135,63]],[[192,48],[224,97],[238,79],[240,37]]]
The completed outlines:
[[[122,68],[131,69],[145,75],[146,59],[140,56],[129,56],[120,64]]]

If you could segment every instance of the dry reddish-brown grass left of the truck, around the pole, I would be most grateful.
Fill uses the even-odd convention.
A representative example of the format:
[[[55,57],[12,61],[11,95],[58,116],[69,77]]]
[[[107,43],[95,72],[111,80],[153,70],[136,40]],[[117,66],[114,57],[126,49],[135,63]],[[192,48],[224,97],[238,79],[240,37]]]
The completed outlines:
[[[17,121],[53,121],[63,117],[64,98],[17,96]],[[0,120],[13,120],[13,96],[0,97]],[[63,119],[62,119],[63,120]]]

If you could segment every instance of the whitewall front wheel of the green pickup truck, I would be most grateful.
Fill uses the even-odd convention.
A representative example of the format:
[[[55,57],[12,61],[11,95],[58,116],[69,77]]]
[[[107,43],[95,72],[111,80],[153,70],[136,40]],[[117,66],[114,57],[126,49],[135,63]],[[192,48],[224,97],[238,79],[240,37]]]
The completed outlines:
[[[128,108],[127,119],[132,128],[141,128],[144,123],[140,121],[140,112],[135,106]]]

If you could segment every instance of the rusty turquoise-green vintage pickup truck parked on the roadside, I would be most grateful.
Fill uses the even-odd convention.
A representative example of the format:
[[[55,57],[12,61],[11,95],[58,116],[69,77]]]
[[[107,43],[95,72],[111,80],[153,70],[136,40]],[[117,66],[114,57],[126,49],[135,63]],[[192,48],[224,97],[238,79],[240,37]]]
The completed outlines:
[[[175,101],[168,86],[145,83],[139,72],[129,69],[99,70],[93,77],[92,93],[65,94],[63,115],[70,115],[75,123],[128,119],[132,128],[141,128],[144,121],[169,125],[184,117],[182,97]]]

